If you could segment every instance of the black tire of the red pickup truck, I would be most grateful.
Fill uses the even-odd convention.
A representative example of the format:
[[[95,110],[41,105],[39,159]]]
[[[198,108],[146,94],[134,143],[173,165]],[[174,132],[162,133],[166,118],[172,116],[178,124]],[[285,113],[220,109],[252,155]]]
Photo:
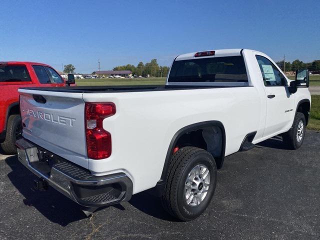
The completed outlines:
[[[5,154],[16,154],[15,141],[21,136],[21,132],[21,116],[10,115],[6,124],[5,140],[1,143],[1,148]]]

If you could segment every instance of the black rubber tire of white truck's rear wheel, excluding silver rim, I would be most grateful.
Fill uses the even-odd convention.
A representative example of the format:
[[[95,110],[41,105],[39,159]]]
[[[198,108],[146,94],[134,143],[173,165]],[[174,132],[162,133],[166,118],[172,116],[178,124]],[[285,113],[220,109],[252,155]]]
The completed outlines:
[[[209,186],[202,202],[188,205],[185,198],[185,183],[188,173],[198,164],[209,170]],[[216,165],[212,155],[201,148],[186,146],[175,152],[169,163],[164,191],[161,196],[163,208],[173,217],[189,221],[199,216],[208,206],[216,186]],[[202,188],[202,187],[201,187]],[[199,188],[200,189],[200,188]]]

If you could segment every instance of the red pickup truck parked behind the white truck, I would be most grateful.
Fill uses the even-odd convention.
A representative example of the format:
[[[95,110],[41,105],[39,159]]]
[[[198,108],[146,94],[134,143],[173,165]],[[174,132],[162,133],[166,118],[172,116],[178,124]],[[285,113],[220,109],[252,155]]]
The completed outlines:
[[[74,84],[73,75],[65,81],[56,70],[43,63],[0,62],[0,145],[4,153],[16,153],[14,143],[22,133],[17,89],[25,86],[70,84]]]

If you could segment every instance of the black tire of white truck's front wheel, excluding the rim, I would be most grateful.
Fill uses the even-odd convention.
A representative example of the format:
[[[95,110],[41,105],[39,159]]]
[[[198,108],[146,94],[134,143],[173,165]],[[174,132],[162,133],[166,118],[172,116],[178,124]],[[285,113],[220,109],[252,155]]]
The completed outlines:
[[[303,127],[302,127],[302,138],[298,141],[297,139],[297,132],[299,127],[299,122],[302,121]],[[305,117],[304,114],[301,112],[297,112],[295,114],[292,127],[290,130],[282,134],[282,140],[283,143],[289,148],[289,149],[297,149],[302,145],[303,139],[305,135]]]

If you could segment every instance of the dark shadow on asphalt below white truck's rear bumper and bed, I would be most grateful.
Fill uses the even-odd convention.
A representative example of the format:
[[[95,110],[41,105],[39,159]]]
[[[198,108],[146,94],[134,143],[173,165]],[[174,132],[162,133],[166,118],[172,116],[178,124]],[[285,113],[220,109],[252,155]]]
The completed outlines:
[[[23,195],[24,199],[22,201],[26,206],[35,207],[48,220],[61,226],[86,218],[80,205],[52,187],[49,187],[46,191],[36,190],[33,186],[33,180],[36,179],[36,176],[17,160],[16,155],[8,156],[5,162],[12,170],[7,174],[7,177]],[[147,192],[133,195],[129,203],[146,214],[165,220],[174,220],[162,209],[158,198]],[[121,204],[115,204],[112,207],[125,210]],[[99,208],[97,211],[103,208],[106,207]]]

